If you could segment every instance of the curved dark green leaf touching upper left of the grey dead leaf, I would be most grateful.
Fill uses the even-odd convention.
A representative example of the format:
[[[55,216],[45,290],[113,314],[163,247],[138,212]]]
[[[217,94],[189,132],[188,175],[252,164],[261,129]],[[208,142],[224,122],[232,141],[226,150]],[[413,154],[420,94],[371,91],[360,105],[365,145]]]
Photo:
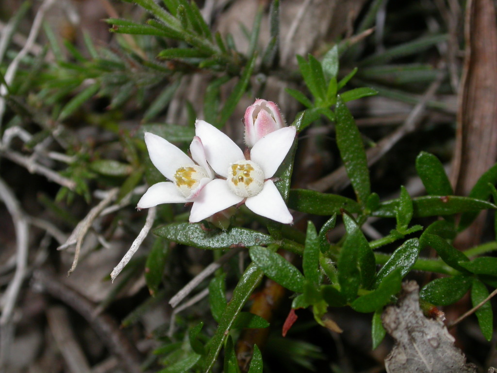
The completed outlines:
[[[350,306],[358,312],[375,312],[390,303],[392,295],[401,290],[401,282],[401,269],[397,268],[380,282],[378,288],[360,296]]]

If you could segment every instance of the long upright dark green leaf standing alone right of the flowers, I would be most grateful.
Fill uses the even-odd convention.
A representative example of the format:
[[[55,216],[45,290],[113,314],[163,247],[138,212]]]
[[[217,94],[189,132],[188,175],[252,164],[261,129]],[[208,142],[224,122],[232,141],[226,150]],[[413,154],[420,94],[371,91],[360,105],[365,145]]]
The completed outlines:
[[[354,188],[357,201],[360,204],[365,204],[369,194],[371,194],[366,152],[354,118],[339,95],[337,96],[335,114],[336,143],[340,157]]]

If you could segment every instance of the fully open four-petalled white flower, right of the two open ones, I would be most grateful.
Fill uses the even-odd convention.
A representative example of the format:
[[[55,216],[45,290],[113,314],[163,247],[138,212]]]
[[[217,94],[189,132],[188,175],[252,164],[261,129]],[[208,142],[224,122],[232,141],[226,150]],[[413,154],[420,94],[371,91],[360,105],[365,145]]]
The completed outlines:
[[[256,214],[285,224],[293,221],[270,178],[293,144],[294,126],[281,128],[260,138],[250,151],[250,160],[227,135],[211,124],[197,120],[195,127],[207,162],[216,174],[226,180],[214,179],[202,189],[191,209],[190,222],[205,219],[244,200]]]

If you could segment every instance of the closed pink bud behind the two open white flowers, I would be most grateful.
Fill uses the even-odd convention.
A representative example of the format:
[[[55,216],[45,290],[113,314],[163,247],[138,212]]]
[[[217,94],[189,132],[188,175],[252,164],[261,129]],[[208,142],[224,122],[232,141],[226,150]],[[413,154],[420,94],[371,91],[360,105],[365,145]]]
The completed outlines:
[[[252,147],[262,137],[285,126],[281,111],[272,101],[256,99],[245,111],[245,143]]]

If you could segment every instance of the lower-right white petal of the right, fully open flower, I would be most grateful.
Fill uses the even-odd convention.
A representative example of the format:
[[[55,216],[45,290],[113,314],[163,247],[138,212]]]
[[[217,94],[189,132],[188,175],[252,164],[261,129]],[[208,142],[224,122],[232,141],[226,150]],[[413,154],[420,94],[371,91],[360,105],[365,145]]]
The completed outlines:
[[[264,188],[259,194],[248,197],[245,205],[256,214],[280,223],[293,222],[292,214],[288,211],[283,197],[271,180],[264,183]]]

